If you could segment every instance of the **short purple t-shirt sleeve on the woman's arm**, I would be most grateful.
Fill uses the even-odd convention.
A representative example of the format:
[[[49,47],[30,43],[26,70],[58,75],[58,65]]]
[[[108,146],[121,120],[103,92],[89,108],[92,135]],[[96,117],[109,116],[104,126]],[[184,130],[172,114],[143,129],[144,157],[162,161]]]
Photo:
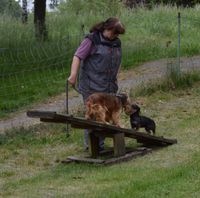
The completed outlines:
[[[95,46],[89,38],[85,38],[78,49],[76,50],[74,56],[77,56],[81,60],[87,58],[88,55],[92,54],[95,51]]]

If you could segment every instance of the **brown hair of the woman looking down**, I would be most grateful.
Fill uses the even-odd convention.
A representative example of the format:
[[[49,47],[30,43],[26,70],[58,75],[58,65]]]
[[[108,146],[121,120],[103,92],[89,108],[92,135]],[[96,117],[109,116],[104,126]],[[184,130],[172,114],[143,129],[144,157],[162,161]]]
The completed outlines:
[[[115,34],[124,34],[125,27],[119,21],[118,18],[111,17],[108,18],[106,21],[102,21],[100,23],[95,24],[91,29],[91,32],[103,32],[104,30],[112,30]]]

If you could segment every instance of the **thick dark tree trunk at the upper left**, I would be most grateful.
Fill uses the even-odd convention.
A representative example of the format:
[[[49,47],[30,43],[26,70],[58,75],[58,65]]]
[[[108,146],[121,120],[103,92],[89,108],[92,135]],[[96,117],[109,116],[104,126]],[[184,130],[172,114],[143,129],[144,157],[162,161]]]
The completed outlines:
[[[45,14],[46,14],[46,0],[35,0],[34,1],[35,35],[36,38],[40,41],[47,40]]]

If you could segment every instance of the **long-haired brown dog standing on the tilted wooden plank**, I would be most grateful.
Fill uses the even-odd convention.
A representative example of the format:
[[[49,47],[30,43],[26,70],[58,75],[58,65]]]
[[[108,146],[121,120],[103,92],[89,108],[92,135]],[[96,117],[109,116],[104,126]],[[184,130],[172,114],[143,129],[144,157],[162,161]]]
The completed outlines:
[[[112,123],[120,127],[120,113],[124,109],[127,115],[132,114],[131,104],[126,94],[94,93],[86,100],[88,120]]]

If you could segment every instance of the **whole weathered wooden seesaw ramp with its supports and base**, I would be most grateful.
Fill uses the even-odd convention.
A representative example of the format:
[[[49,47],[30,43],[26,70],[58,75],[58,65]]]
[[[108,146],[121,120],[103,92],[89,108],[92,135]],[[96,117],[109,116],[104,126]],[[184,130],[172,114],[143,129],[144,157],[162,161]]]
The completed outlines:
[[[67,123],[73,128],[91,129],[91,132],[89,133],[89,153],[92,158],[68,157],[67,160],[63,161],[63,163],[74,161],[113,164],[114,162],[124,161],[129,158],[149,153],[152,151],[152,148],[155,147],[164,147],[177,143],[176,139],[158,137],[147,133],[136,132],[133,129],[119,128],[114,125],[73,117],[72,115],[67,114],[57,114],[52,111],[28,111],[27,116],[40,118],[40,121],[42,122]],[[101,155],[98,146],[99,137],[113,138],[114,158],[107,160],[97,159]],[[133,149],[131,152],[127,152],[124,137],[136,139],[138,143],[142,143],[145,147]]]

